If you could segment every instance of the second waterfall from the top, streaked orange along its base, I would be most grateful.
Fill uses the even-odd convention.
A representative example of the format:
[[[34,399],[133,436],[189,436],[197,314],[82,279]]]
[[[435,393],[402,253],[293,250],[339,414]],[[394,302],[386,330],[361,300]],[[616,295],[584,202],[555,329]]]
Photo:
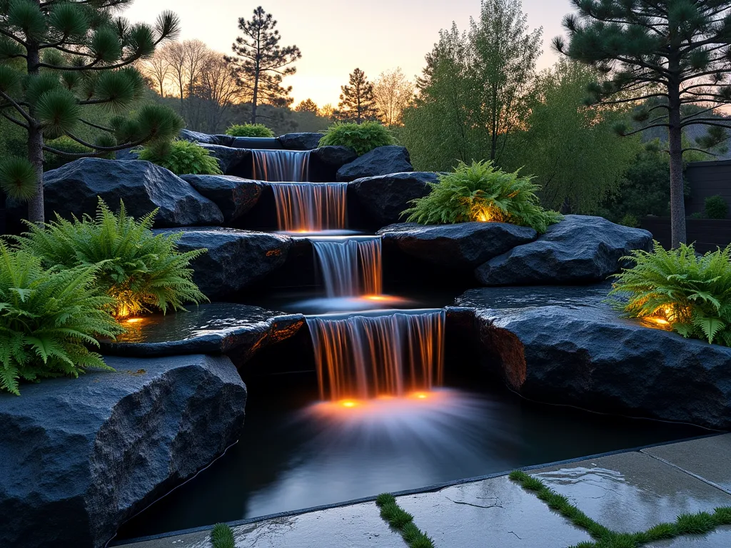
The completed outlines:
[[[272,183],[279,229],[321,232],[347,227],[348,183]]]

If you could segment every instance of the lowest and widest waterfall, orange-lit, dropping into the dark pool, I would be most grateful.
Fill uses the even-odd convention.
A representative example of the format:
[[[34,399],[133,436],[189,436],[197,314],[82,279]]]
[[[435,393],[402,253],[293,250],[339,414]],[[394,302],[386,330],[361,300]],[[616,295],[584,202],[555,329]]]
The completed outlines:
[[[401,396],[444,380],[444,311],[308,317],[322,400]]]

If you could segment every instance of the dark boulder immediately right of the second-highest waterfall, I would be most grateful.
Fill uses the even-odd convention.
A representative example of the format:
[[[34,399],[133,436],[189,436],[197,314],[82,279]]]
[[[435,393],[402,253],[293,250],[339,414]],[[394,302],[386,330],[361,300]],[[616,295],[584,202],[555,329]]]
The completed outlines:
[[[411,207],[411,201],[428,196],[429,183],[436,183],[436,173],[406,172],[366,177],[353,181],[349,186],[375,228],[401,221],[401,213]]]

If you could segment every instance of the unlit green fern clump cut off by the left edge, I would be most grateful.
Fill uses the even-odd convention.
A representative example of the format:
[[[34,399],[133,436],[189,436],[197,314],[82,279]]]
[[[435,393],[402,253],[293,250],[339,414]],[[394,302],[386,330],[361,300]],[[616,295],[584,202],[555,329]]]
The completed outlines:
[[[0,389],[20,395],[20,380],[110,369],[87,346],[124,330],[96,290],[99,266],[47,270],[40,257],[0,241]]]

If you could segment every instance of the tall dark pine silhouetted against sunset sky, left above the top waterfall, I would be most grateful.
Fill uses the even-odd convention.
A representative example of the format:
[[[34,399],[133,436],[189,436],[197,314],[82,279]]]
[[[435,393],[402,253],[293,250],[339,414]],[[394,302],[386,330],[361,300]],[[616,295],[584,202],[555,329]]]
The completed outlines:
[[[232,50],[235,56],[227,57],[239,71],[241,85],[248,88],[251,96],[251,123],[257,123],[257,107],[262,97],[276,107],[289,106],[292,87],[284,88],[282,79],[297,72],[292,64],[302,57],[296,45],[281,47],[277,22],[264,8],[254,9],[251,20],[239,18],[238,28],[242,37],[236,38]]]

